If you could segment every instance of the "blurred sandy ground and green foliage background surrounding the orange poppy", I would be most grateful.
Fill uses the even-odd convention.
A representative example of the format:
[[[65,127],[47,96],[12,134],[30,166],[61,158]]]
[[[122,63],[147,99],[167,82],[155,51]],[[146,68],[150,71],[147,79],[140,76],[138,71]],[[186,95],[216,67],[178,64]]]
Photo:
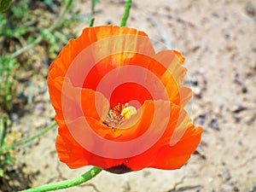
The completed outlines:
[[[91,18],[95,26],[119,25],[124,6],[120,0],[22,0],[0,13],[0,147],[53,122],[49,64]],[[138,0],[127,26],[148,33],[156,49],[185,55],[185,84],[194,90],[189,113],[205,130],[201,145],[180,170],[101,172],[60,191],[256,191],[256,1]],[[69,170],[59,162],[56,134],[55,128],[31,143],[0,151],[0,191],[89,170]]]

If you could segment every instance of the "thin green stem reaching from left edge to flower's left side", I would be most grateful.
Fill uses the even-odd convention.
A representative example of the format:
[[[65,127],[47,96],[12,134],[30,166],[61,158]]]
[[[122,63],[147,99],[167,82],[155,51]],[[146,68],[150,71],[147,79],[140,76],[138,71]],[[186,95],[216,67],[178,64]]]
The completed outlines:
[[[14,148],[20,147],[21,145],[24,145],[24,144],[26,144],[26,143],[29,143],[29,142],[31,142],[32,140],[34,140],[35,138],[44,135],[44,133],[46,133],[47,131],[49,131],[49,130],[55,128],[55,126],[56,126],[56,123],[54,122],[52,125],[49,125],[49,126],[46,127],[44,130],[38,132],[38,134],[36,134],[36,135],[34,135],[34,136],[32,136],[32,137],[28,137],[28,138],[26,138],[26,139],[24,139],[24,140],[22,140],[22,141],[20,141],[20,142],[18,142],[18,143],[15,143],[15,144],[13,144],[13,145],[9,145],[9,146],[5,146],[5,147],[3,147],[3,148],[0,148],[0,153],[2,153],[2,152],[4,152],[4,151],[8,151],[8,150],[10,150],[10,149],[14,149]]]

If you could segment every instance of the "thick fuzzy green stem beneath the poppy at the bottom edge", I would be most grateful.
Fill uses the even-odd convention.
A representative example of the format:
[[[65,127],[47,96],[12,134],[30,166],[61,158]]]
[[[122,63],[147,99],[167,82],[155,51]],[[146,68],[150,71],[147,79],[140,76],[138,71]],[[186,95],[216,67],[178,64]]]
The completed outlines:
[[[85,172],[83,175],[79,177],[67,179],[57,183],[44,184],[37,188],[25,189],[20,192],[43,192],[43,191],[71,188],[73,186],[89,181],[91,178],[96,177],[96,175],[99,174],[100,172],[102,172],[102,169],[94,166],[90,169],[89,172]]]

